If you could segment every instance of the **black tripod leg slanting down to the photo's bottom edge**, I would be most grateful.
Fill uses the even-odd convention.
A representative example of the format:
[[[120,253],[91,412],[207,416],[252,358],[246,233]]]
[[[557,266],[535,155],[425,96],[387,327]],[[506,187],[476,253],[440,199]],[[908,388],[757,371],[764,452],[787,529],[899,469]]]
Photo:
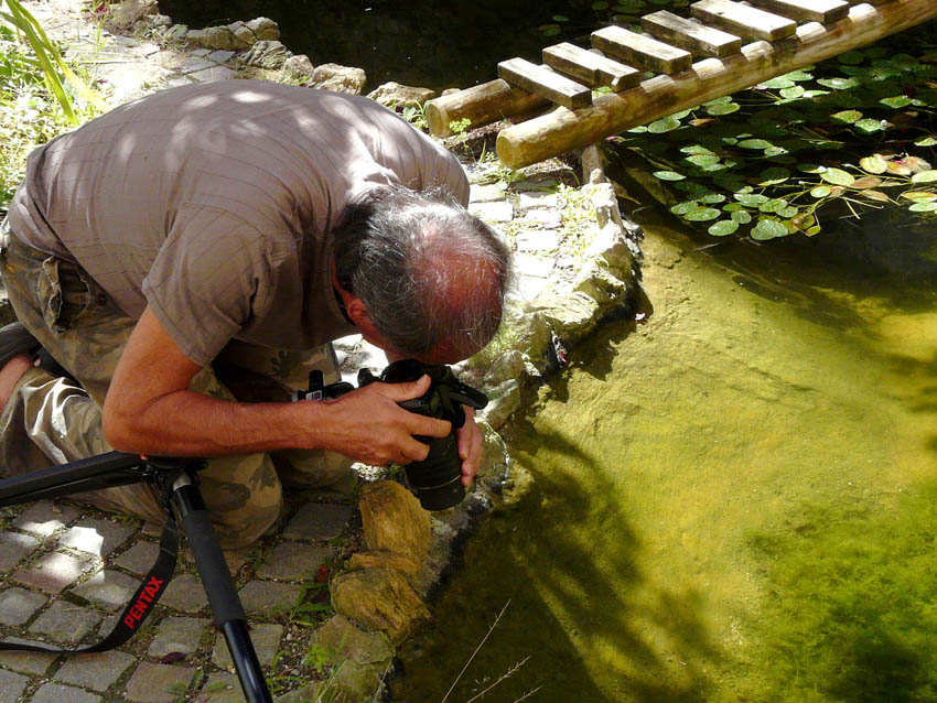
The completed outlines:
[[[211,516],[202,494],[187,474],[181,474],[173,484],[172,501],[192,548],[215,621],[225,635],[244,695],[248,703],[272,703],[270,689],[267,688],[254,642],[250,641],[247,615],[228,573],[228,564],[218,544]]]

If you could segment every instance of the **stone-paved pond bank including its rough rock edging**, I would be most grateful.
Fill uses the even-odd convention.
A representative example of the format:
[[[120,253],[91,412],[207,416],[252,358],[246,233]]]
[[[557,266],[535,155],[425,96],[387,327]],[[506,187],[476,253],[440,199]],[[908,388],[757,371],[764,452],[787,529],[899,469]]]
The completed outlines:
[[[132,11],[146,3],[125,4]],[[76,0],[34,1],[28,7],[51,36],[66,43],[73,55],[80,56],[93,74],[106,82],[112,105],[192,82],[282,77],[282,66],[292,58],[284,58],[270,44],[265,48],[274,50],[277,61],[283,58],[278,68],[241,58],[251,53],[251,62],[269,56],[251,47],[277,41],[262,39],[273,36],[273,28],[259,20],[245,23],[244,31],[238,26],[225,34],[246,36],[250,32],[254,42],[248,47],[216,48],[185,44],[179,32],[169,36],[172,24],[159,15],[138,18],[142,23],[136,26],[143,36],[123,35],[103,31],[83,14]],[[166,41],[153,41],[162,31]],[[202,36],[206,34],[212,33]],[[304,66],[301,61],[293,63]],[[331,77],[337,75],[329,71]],[[354,78],[354,71],[341,75]],[[354,89],[356,84],[338,78],[330,85]],[[351,486],[344,491],[305,491],[291,497],[288,511],[271,533],[230,555],[261,662],[280,694],[278,701],[299,701],[324,691],[360,700],[380,688],[394,646],[427,615],[420,598],[413,602],[399,594],[426,596],[449,563],[453,541],[474,516],[519,495],[525,485],[524,474],[513,469],[495,430],[521,407],[525,392],[563,363],[566,349],[591,334],[601,318],[634,310],[638,232],[621,220],[601,169],[589,169],[593,182],[583,187],[579,183],[589,179],[581,179],[578,163],[557,161],[508,172],[478,152],[486,139],[484,133],[463,134],[449,143],[470,173],[471,208],[505,234],[518,262],[504,332],[486,355],[461,367],[471,382],[493,398],[484,414],[488,452],[478,485],[460,508],[431,520],[410,512],[413,499],[387,488],[396,486],[394,482],[376,484],[384,487],[379,491],[364,490],[360,509],[356,509],[357,495]],[[351,363],[368,350],[346,340],[343,352]],[[376,512],[375,506],[390,504],[398,507],[389,521],[406,524],[400,530],[405,537],[426,536],[416,540],[416,551],[387,542],[386,530],[368,517]],[[94,510],[46,501],[7,510],[4,516],[0,543],[9,547],[2,554],[8,576],[0,599],[30,604],[19,608],[24,617],[0,616],[0,630],[7,637],[25,634],[60,645],[95,640],[112,619],[101,618],[100,608],[112,612],[125,595],[129,597],[132,576],[155,548],[154,534],[147,526]],[[69,537],[76,534],[99,536],[103,541]],[[380,552],[422,560],[422,565],[412,572],[406,560],[388,561]],[[41,574],[54,577],[43,580]],[[371,577],[379,583],[369,581]],[[365,592],[387,586],[394,595],[376,602],[357,595],[336,596],[336,583],[347,586],[355,581],[370,584]],[[327,601],[323,584],[330,582],[338,614],[313,631],[305,623],[323,609]],[[7,653],[0,655],[0,681],[9,684],[4,690],[28,702],[53,694],[71,695],[83,703],[175,703],[180,696],[206,703],[238,700],[230,662],[206,619],[204,594],[191,563],[180,569],[175,584],[179,597],[168,597],[159,606],[152,627],[142,637],[96,660],[103,668],[111,667],[114,675],[88,675],[93,669],[87,658],[80,660],[86,668],[77,671],[79,660]],[[363,602],[367,607],[357,607]],[[412,607],[403,607],[405,603]],[[336,657],[342,642],[353,646],[344,647]],[[323,679],[329,671],[335,675]],[[309,680],[319,681],[302,685]]]

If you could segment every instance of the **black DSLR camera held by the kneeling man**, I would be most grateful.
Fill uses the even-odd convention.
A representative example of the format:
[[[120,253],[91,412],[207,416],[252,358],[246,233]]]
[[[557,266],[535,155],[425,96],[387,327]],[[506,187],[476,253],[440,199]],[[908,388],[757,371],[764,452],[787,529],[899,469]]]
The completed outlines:
[[[488,403],[487,396],[460,381],[448,366],[423,364],[417,359],[395,361],[385,368],[379,377],[362,369],[358,372],[358,387],[373,381],[406,383],[420,379],[424,374],[432,380],[429,390],[420,398],[405,400],[398,404],[420,415],[448,420],[452,423],[452,432],[444,437],[416,435],[417,440],[430,445],[430,453],[423,461],[411,462],[405,469],[407,480],[416,489],[423,509],[445,510],[459,505],[465,497],[462,459],[459,457],[455,440],[455,430],[465,424],[465,411],[462,405],[476,410],[484,408]],[[297,393],[298,400],[337,398],[355,388],[347,382],[323,386],[321,371],[310,374],[309,380],[309,390]]]

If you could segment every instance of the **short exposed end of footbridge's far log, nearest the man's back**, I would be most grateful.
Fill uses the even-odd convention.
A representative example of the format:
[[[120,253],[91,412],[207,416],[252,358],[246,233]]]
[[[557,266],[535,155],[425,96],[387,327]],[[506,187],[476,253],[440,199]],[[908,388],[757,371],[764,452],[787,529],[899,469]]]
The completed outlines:
[[[543,96],[515,88],[507,80],[497,78],[430,100],[426,115],[430,133],[443,138],[452,134],[449,128],[452,122],[467,119],[472,127],[482,127],[549,105]]]

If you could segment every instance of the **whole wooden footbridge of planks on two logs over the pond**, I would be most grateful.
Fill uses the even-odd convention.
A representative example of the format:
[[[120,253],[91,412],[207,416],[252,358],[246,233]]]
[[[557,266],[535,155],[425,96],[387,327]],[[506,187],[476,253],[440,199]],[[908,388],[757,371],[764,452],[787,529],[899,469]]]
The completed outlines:
[[[640,34],[606,26],[591,50],[548,46],[542,65],[504,61],[496,80],[428,102],[430,131],[515,121],[497,153],[518,169],[906,30],[937,17],[937,0],[699,0],[690,10],[648,14]],[[602,86],[611,91],[593,97]]]

